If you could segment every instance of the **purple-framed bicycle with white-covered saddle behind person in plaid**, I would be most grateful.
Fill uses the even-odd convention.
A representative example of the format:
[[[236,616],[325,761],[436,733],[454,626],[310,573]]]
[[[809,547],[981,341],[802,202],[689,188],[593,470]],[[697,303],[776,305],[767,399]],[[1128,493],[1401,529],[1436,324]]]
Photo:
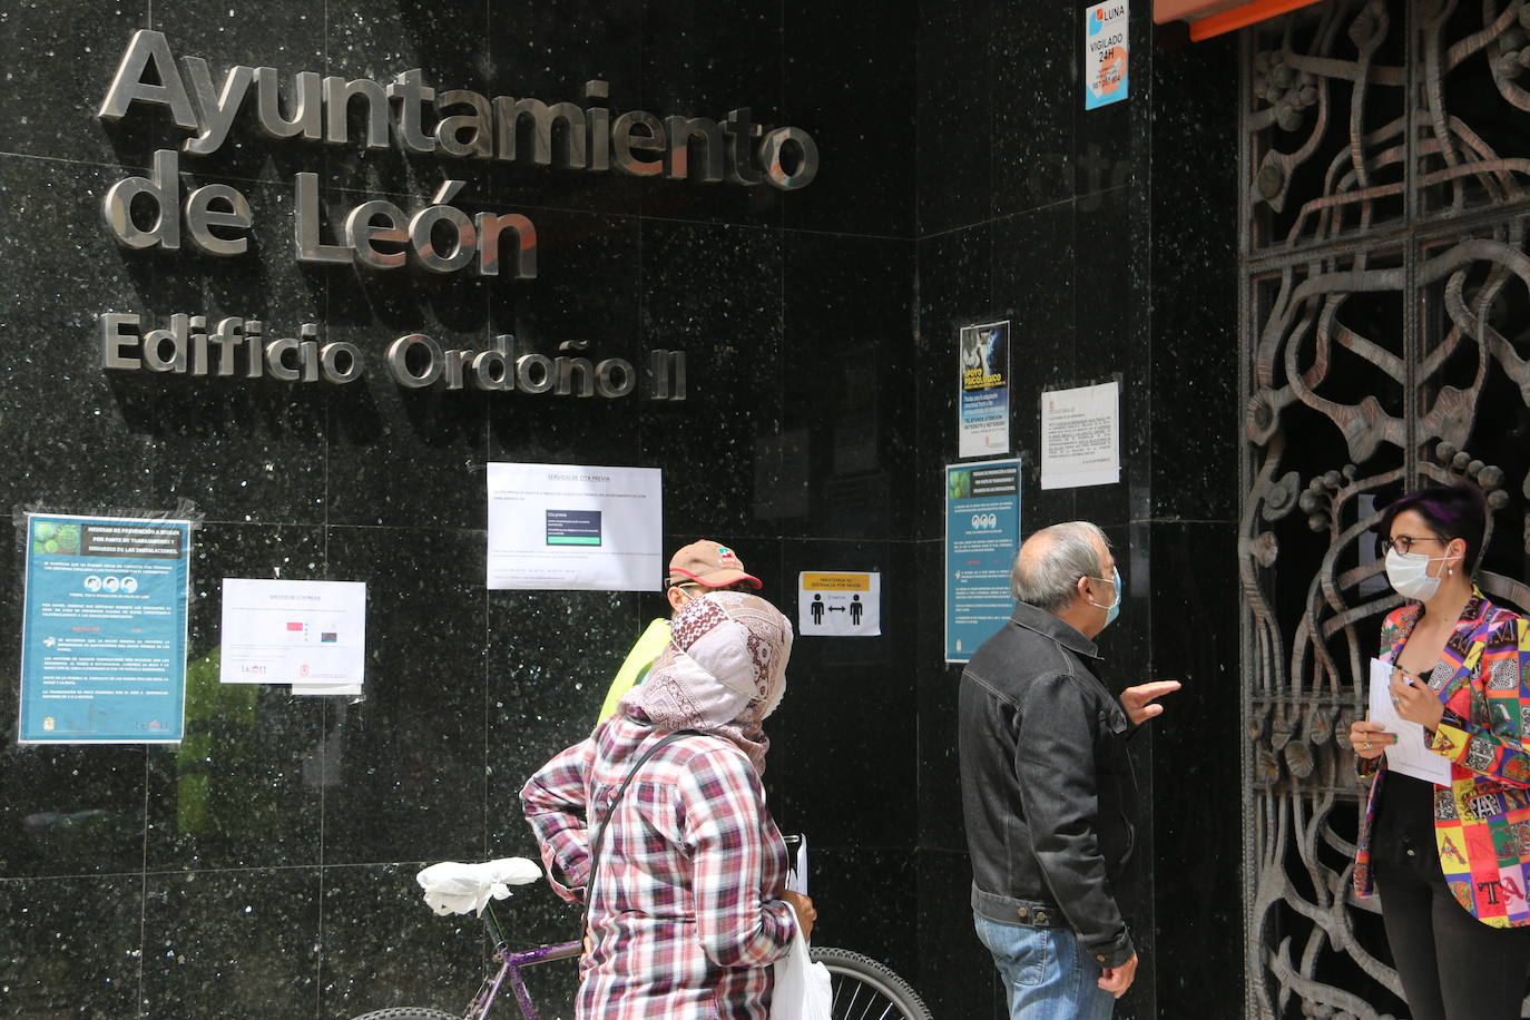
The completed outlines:
[[[522,866],[522,875],[536,872],[536,876],[508,878],[505,882],[522,885],[534,882],[542,876],[540,869],[534,862],[525,858],[509,859]],[[540,1014],[537,1012],[537,1005],[531,1000],[531,992],[526,989],[526,980],[522,974],[523,968],[554,960],[577,959],[584,951],[584,947],[580,942],[557,942],[528,950],[511,950],[509,939],[499,918],[494,914],[491,902],[491,899],[502,896],[494,893],[491,885],[491,882],[480,884],[479,888],[465,896],[465,899],[482,904],[479,916],[483,921],[490,944],[494,947],[493,956],[499,960],[499,970],[483,979],[477,994],[468,1003],[467,1012],[454,1014],[424,1006],[390,1006],[361,1014],[355,1020],[487,1020],[490,1011],[494,1008],[494,1002],[506,985],[516,999],[516,1005],[520,1008],[522,1018],[539,1020]],[[505,890],[505,895],[508,895],[508,890]],[[467,913],[471,908],[470,905],[454,913]],[[851,950],[819,947],[811,948],[809,956],[815,963],[823,963],[832,979],[834,1020],[930,1020],[930,1012],[926,1009],[918,992],[890,968],[869,956]]]

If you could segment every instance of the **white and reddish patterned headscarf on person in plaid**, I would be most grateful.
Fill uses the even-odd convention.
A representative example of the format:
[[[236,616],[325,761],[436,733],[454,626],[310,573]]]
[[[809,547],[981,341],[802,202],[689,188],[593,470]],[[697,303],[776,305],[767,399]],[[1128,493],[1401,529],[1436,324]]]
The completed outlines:
[[[621,699],[623,711],[661,729],[731,740],[763,774],[770,737],[760,723],[786,690],[791,624],[756,595],[710,592],[685,603],[670,632],[643,687]]]

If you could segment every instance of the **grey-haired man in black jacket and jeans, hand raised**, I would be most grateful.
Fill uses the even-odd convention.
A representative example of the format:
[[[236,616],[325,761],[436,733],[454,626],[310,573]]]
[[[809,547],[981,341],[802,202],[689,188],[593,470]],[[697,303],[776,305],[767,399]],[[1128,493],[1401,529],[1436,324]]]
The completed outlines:
[[[1097,526],[1025,540],[1016,607],[961,677],[962,814],[972,908],[1011,1020],[1108,1020],[1137,976],[1118,902],[1135,844],[1134,728],[1180,688],[1095,677],[1094,638],[1115,619],[1121,578]]]

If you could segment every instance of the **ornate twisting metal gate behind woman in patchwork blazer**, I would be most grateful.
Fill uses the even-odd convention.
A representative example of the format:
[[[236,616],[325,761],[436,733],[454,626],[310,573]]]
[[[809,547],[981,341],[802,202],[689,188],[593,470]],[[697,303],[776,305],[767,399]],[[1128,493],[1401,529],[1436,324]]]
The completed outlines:
[[[1248,1015],[1405,1015],[1348,893],[1345,733],[1400,601],[1386,500],[1481,485],[1480,581],[1530,609],[1530,3],[1330,0],[1245,37]]]

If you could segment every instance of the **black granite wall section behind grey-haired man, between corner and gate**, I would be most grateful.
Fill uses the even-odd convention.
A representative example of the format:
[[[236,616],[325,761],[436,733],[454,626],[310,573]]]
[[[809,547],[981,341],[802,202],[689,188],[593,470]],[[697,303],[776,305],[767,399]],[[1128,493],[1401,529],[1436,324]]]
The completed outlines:
[[[1022,529],[1086,518],[1121,564],[1106,681],[1180,679],[1134,742],[1151,810],[1141,950],[1118,1017],[1232,1017],[1242,1003],[1238,584],[1236,49],[1155,32],[1132,5],[1132,96],[1083,109],[1083,3],[930,0],[918,35],[918,356],[950,373],[965,323],[1011,321]],[[1183,34],[1183,28],[1180,29]],[[1120,485],[1042,491],[1040,395],[1121,379]],[[923,387],[921,479],[956,456],[949,387]],[[920,583],[938,604],[939,506]],[[938,1017],[1004,1017],[972,933],[941,619],[921,616],[920,988]]]

